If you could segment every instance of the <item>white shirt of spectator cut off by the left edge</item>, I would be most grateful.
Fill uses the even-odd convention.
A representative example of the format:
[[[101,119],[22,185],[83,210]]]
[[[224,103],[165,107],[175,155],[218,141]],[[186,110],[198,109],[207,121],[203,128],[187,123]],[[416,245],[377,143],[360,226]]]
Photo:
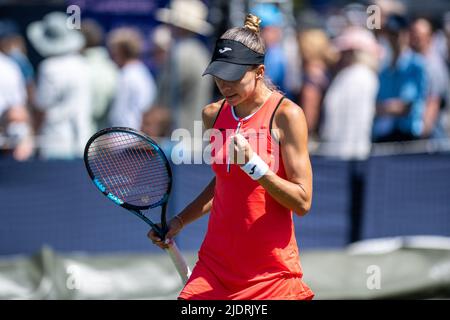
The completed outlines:
[[[19,67],[0,52],[0,117],[11,107],[25,106],[25,83]]]

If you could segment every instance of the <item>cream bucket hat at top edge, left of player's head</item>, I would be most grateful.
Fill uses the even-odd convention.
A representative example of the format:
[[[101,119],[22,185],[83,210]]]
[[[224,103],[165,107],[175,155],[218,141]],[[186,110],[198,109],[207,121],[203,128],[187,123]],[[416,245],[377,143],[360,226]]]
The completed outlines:
[[[156,19],[201,35],[209,35],[213,27],[206,21],[208,8],[200,0],[174,0],[170,8],[159,9]]]

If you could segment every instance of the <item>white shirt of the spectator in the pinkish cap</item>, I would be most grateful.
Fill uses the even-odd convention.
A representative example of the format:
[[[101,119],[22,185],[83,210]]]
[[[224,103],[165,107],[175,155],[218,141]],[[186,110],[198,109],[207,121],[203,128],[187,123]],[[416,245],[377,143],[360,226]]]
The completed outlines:
[[[378,77],[363,64],[341,70],[324,98],[321,153],[341,159],[365,159],[371,147]]]

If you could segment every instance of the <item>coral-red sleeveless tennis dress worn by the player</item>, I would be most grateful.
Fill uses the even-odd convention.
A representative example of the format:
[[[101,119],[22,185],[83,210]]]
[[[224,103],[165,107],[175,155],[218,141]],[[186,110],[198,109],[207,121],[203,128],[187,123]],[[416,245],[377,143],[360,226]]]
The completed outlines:
[[[239,126],[239,133],[253,150],[277,175],[286,178],[278,145],[272,144],[269,130],[282,99],[281,94],[273,92],[262,107],[243,119],[236,117],[227,102],[222,105],[214,123],[220,134],[211,136],[216,185],[208,230],[198,262],[179,298],[313,298],[314,293],[302,281],[292,211],[274,200],[238,165],[231,165],[227,172],[229,135]]]

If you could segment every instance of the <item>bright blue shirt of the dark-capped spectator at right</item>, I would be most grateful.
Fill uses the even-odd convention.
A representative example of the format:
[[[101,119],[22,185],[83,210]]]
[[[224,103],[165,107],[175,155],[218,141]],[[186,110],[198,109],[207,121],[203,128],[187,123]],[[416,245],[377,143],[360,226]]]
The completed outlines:
[[[395,66],[384,66],[379,74],[377,102],[400,99],[410,105],[405,116],[380,116],[375,119],[374,138],[395,131],[419,137],[423,128],[423,112],[427,97],[427,74],[423,57],[412,50],[400,54]]]

